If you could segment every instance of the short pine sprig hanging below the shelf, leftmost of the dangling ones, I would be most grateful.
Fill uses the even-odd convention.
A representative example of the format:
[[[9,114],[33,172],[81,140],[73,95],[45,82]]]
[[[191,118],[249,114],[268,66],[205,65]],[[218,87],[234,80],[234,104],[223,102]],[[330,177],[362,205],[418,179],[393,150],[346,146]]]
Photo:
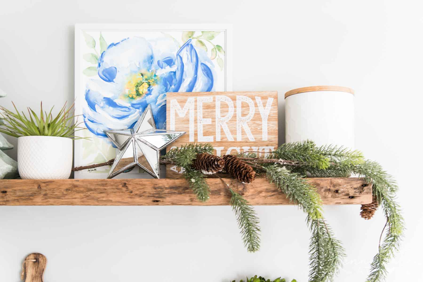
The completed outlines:
[[[260,249],[260,222],[252,205],[248,204],[240,194],[229,188],[232,194],[231,205],[235,213],[238,227],[241,229],[242,241],[248,252],[257,252]]]

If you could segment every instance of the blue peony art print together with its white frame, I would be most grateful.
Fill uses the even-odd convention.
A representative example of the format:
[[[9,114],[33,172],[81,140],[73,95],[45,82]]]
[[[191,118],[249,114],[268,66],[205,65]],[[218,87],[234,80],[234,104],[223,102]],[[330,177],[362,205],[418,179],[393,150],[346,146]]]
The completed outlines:
[[[166,128],[166,93],[230,91],[230,25],[75,25],[75,166],[107,162],[116,148],[104,130],[134,126],[148,105]],[[110,167],[75,172],[106,178]],[[140,178],[143,171],[118,175]]]

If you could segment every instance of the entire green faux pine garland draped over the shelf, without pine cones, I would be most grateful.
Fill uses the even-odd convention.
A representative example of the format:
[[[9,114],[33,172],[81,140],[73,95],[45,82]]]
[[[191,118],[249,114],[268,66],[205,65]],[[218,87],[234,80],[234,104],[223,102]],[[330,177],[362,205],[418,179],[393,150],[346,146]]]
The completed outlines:
[[[198,153],[212,151],[210,144],[186,145],[169,151],[163,157],[162,164],[184,167],[184,176],[198,200],[206,201],[209,198],[209,186],[204,175],[192,168],[192,162]],[[360,151],[333,145],[318,147],[310,140],[283,144],[266,159],[257,158],[255,153],[241,154],[239,158],[251,164],[256,172],[265,173],[270,182],[274,182],[291,202],[297,203],[307,214],[306,222],[311,232],[309,282],[332,281],[345,255],[341,242],[334,237],[322,215],[319,194],[304,179],[307,173],[321,177],[347,177],[358,174],[372,183],[373,195],[381,203],[387,218],[387,230],[384,240],[379,242],[379,252],[374,256],[371,273],[366,282],[384,281],[387,274],[386,264],[398,249],[403,236],[404,219],[395,201],[398,186],[392,176],[377,162],[365,160]],[[258,217],[253,207],[248,205],[241,195],[231,189],[230,191],[231,205],[241,229],[244,245],[248,251],[255,252],[260,243]]]

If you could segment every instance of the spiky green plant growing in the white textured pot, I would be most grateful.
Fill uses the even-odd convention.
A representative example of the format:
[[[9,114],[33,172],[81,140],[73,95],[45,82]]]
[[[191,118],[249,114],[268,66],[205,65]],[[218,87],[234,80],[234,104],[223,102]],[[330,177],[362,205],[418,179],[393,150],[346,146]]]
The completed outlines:
[[[22,111],[22,115],[19,113],[15,104],[12,102],[16,112],[0,107],[0,115],[4,118],[5,124],[1,125],[0,132],[13,136],[56,136],[56,137],[68,137],[72,139],[80,139],[74,135],[75,131],[79,131],[85,128],[79,127],[81,123],[77,121],[74,123],[74,115],[71,110],[74,109],[72,104],[66,109],[66,103],[60,109],[59,113],[53,118],[52,110],[54,106],[47,111],[43,112],[43,103],[40,106],[40,115],[37,115],[31,108],[27,108],[28,117]]]

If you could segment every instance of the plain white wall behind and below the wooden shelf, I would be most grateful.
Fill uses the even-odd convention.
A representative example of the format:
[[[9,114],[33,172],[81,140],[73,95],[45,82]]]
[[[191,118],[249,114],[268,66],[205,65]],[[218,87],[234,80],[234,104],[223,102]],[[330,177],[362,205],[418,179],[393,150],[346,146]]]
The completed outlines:
[[[421,1],[236,2],[2,1],[0,88],[9,96],[0,102],[24,109],[73,100],[75,23],[233,23],[233,89],[279,92],[280,142],[286,91],[354,88],[356,148],[401,186],[406,238],[387,281],[421,278]],[[16,149],[8,153],[16,158]],[[47,256],[47,282],[223,282],[253,274],[307,281],[305,214],[256,209],[261,251],[249,254],[230,207],[0,207],[0,281],[19,281],[30,252]],[[365,281],[382,212],[365,221],[360,206],[324,210],[348,254],[335,281]]]

